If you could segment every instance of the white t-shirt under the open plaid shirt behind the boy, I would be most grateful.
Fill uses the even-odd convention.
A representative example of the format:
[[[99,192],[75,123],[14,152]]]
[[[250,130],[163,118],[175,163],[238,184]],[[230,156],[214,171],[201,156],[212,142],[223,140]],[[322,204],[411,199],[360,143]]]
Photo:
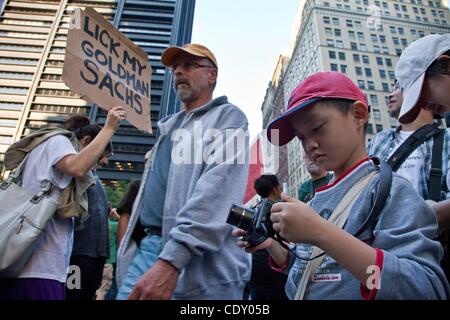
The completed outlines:
[[[413,133],[414,131],[401,130],[395,138],[394,151],[389,155],[389,157],[397,151],[400,145]],[[416,148],[397,170],[397,174],[407,179],[417,192],[419,192],[420,167],[423,166],[424,163],[425,159],[423,155],[419,153],[419,148]]]

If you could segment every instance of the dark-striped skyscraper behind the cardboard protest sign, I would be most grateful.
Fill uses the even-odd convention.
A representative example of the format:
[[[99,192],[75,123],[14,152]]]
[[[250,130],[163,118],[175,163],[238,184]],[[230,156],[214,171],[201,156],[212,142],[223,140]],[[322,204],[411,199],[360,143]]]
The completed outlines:
[[[128,123],[113,138],[114,155],[99,170],[106,180],[139,178],[156,138],[156,122],[179,108],[171,76],[160,62],[170,45],[190,42],[195,0],[5,0],[0,14],[0,165],[7,147],[33,130],[58,126],[68,114],[103,124],[106,112],[62,82],[64,50],[74,7],[91,6],[147,52],[152,66],[154,133]]]

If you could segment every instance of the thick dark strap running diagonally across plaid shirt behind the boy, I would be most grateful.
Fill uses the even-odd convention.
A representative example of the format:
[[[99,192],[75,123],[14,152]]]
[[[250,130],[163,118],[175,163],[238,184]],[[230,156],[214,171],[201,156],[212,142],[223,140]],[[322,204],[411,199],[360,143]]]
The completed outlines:
[[[395,172],[400,168],[402,163],[409,157],[409,155],[417,149],[422,143],[430,139],[441,131],[436,123],[427,124],[408,137],[398,149],[389,157],[387,163]]]

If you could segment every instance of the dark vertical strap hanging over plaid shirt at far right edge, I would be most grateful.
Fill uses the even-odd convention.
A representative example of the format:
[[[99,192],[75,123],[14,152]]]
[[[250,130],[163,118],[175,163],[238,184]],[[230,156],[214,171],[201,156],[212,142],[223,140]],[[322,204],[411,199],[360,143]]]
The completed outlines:
[[[428,180],[428,198],[436,202],[442,200],[442,148],[444,146],[444,130],[440,129],[433,139],[430,177]]]

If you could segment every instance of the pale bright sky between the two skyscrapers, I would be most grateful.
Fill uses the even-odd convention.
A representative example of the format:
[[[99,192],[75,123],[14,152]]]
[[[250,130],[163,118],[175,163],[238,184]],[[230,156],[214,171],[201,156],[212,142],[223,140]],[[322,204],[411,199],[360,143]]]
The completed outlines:
[[[219,64],[214,96],[227,95],[261,130],[261,104],[280,53],[287,51],[299,0],[196,0],[192,42]]]

